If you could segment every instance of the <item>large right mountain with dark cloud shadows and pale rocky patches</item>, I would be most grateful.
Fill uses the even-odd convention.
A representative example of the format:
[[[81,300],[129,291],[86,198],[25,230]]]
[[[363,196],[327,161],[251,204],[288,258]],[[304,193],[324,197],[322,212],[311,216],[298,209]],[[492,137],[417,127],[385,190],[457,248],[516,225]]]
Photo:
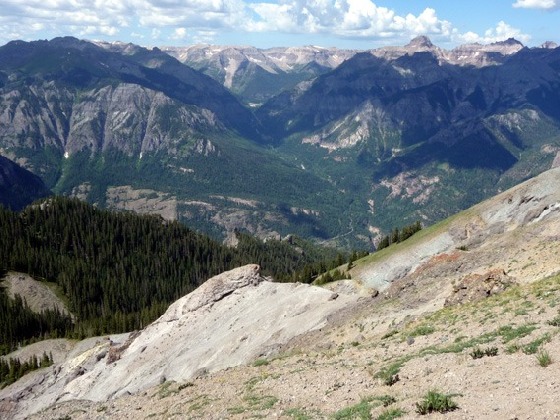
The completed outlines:
[[[406,51],[356,54],[257,112],[280,150],[360,196],[356,220],[373,235],[440,220],[549,169],[560,151],[560,49],[484,67],[431,44]]]

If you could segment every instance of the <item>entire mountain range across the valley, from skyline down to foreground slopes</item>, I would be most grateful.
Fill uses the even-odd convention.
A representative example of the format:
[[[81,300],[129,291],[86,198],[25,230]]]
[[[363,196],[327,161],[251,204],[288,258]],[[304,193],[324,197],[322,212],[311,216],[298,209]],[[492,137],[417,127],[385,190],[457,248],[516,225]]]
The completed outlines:
[[[553,43],[14,41],[0,47],[0,97],[0,152],[53,192],[222,239],[296,233],[372,248],[560,160]]]

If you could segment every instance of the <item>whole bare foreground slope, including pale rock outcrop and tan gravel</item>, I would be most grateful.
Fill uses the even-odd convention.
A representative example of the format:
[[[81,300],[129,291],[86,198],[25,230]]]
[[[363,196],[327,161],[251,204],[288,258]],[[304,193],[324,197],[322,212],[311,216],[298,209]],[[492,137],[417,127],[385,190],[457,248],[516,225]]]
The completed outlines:
[[[343,409],[414,418],[416,402],[437,388],[459,406],[446,418],[552,417],[559,179],[560,169],[548,171],[359,260],[352,281],[329,285],[335,291],[262,281],[257,266],[224,273],[128,339],[91,343],[0,391],[0,407],[23,417],[57,401],[35,418],[129,417],[139,407],[157,418],[325,418]],[[364,288],[376,271],[394,273],[379,294]],[[541,367],[536,354],[552,364]]]

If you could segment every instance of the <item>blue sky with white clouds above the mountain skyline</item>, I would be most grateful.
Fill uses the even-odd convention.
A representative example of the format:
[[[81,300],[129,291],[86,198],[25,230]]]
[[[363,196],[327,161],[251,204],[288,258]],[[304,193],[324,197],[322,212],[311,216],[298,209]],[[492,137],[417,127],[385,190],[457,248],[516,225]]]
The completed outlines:
[[[442,48],[513,37],[560,44],[560,0],[1,0],[0,45],[58,36],[147,47]]]

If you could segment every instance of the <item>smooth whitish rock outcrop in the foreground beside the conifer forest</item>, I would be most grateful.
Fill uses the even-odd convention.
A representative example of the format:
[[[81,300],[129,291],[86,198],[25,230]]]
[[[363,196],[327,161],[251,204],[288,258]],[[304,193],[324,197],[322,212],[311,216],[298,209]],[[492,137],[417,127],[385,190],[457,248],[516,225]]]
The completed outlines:
[[[56,401],[103,401],[248,363],[324,327],[329,315],[356,299],[273,283],[257,265],[240,267],[208,280],[124,342],[100,339],[64,363],[25,376],[0,391],[0,410],[11,402],[10,416],[24,418]]]

